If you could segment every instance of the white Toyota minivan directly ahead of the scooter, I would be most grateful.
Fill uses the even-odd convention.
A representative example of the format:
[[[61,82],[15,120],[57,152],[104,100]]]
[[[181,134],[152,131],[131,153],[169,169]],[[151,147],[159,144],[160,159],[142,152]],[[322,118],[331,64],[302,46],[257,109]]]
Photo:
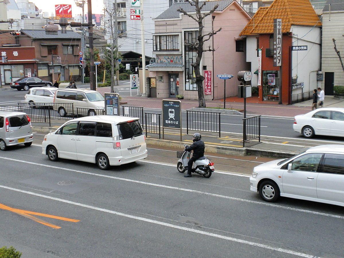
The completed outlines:
[[[88,116],[65,122],[44,137],[42,154],[96,163],[102,170],[147,158],[146,137],[139,118]]]

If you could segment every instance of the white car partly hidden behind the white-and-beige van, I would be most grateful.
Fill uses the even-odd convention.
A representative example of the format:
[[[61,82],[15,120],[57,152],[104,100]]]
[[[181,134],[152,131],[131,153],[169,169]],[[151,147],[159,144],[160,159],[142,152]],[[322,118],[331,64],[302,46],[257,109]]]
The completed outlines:
[[[58,88],[55,87],[34,87],[25,94],[25,102],[30,105],[34,103],[53,103],[54,95]],[[53,106],[53,105],[51,105]]]

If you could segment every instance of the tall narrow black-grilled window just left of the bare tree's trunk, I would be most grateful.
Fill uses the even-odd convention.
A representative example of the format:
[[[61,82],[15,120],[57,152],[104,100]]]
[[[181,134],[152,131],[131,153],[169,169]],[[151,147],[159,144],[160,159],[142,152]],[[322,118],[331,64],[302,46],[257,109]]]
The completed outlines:
[[[184,32],[185,43],[197,42],[197,31]],[[185,48],[185,90],[197,90],[196,76],[194,67],[191,65],[196,62],[196,49],[193,46],[184,45]]]

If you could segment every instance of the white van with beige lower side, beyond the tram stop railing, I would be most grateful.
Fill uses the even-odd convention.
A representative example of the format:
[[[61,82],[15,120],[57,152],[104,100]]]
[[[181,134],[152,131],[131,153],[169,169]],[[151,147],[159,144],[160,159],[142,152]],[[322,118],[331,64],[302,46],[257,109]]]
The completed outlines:
[[[102,114],[104,106],[104,97],[95,90],[57,89],[53,108],[62,117],[67,113],[95,116]]]

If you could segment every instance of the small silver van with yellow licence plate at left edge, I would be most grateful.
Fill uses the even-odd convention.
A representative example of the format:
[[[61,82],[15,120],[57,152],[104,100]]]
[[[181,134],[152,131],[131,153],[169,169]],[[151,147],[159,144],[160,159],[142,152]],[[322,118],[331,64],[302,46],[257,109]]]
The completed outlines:
[[[31,122],[22,112],[0,111],[0,150],[8,146],[24,144],[30,146],[33,141]]]

